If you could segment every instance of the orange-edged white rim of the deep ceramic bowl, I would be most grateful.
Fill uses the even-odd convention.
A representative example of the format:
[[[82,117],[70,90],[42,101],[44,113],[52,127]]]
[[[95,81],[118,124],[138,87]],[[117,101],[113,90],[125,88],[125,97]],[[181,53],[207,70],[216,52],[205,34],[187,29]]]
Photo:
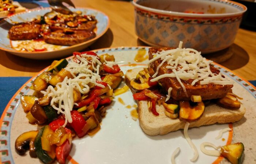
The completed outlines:
[[[135,6],[135,8],[139,8],[142,9],[144,11],[149,11],[149,12],[153,12],[153,13],[159,13],[159,14],[163,14],[163,15],[174,15],[174,16],[182,16],[182,17],[228,17],[228,16],[237,16],[237,15],[242,15],[244,12],[247,11],[247,7],[241,3],[238,2],[234,2],[234,1],[230,1],[230,0],[214,0],[215,2],[219,3],[219,4],[224,4],[229,2],[232,4],[236,4],[239,5],[240,7],[243,8],[242,11],[239,12],[233,12],[233,13],[218,13],[218,14],[198,14],[198,13],[184,13],[184,12],[176,12],[176,11],[166,11],[166,10],[162,10],[162,9],[154,9],[154,8],[150,8],[150,7],[145,7],[143,5],[138,4],[139,0],[133,0],[132,4]],[[195,1],[195,0],[194,0]],[[211,0],[208,0],[211,1]],[[203,1],[201,1],[203,2]],[[232,7],[232,6],[231,6]],[[235,8],[235,7],[233,7]]]

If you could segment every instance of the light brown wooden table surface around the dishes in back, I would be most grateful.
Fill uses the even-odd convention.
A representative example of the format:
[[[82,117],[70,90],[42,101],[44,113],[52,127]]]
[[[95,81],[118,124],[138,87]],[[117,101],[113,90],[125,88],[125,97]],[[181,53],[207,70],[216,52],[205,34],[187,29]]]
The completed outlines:
[[[129,1],[120,0],[73,0],[77,7],[89,7],[106,13],[110,28],[89,47],[90,50],[120,46],[147,46],[135,35],[134,9]],[[256,80],[256,32],[239,29],[233,56],[221,65],[233,70],[246,80]],[[0,50],[0,77],[34,76],[49,66],[52,60],[20,58]]]

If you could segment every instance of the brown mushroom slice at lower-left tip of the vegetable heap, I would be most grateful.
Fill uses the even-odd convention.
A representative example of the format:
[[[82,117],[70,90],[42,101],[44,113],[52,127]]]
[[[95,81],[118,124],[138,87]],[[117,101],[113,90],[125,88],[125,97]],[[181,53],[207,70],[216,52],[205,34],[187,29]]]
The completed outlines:
[[[25,152],[29,149],[30,156],[36,157],[34,152],[34,140],[37,136],[38,130],[31,130],[20,134],[20,136],[15,141],[15,150],[19,155],[24,155]]]

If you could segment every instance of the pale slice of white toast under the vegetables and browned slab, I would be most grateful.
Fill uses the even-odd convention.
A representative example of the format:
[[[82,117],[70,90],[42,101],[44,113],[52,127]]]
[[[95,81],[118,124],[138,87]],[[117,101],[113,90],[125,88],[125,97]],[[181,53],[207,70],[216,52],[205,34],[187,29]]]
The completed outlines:
[[[136,78],[136,75],[140,70],[143,70],[143,68],[140,67],[131,69],[125,74],[125,82],[133,93],[135,92],[131,88],[130,81],[131,79]],[[165,109],[162,105],[156,105],[159,116],[155,116],[148,110],[147,101],[137,101],[137,104],[139,110],[140,127],[146,134],[150,136],[164,135],[178,129],[183,129],[185,126],[185,122],[180,121],[178,118],[172,119],[167,117],[165,115]],[[200,117],[199,120],[191,122],[189,127],[198,127],[215,123],[223,124],[237,122],[244,116],[245,110],[246,109],[242,104],[238,110],[230,110],[215,104],[211,104],[205,107],[203,116]]]

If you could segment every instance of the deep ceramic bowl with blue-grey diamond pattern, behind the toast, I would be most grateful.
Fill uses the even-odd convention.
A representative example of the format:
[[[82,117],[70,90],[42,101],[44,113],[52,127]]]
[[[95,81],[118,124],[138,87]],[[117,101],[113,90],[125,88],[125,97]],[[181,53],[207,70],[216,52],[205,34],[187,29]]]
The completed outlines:
[[[229,0],[133,0],[135,31],[150,46],[210,53],[229,47],[246,7]],[[189,13],[188,13],[189,12]]]

